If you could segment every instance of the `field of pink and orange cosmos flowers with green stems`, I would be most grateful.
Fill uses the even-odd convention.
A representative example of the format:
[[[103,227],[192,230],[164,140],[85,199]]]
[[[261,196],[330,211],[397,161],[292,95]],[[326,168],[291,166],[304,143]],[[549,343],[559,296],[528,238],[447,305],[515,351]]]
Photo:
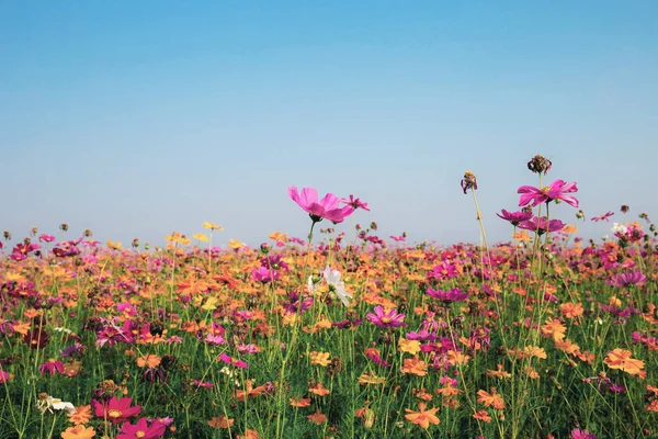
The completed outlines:
[[[309,230],[254,248],[5,232],[0,439],[658,437],[655,226],[585,217],[551,165],[494,218],[466,172],[477,244],[354,230],[367,203],[295,187]]]

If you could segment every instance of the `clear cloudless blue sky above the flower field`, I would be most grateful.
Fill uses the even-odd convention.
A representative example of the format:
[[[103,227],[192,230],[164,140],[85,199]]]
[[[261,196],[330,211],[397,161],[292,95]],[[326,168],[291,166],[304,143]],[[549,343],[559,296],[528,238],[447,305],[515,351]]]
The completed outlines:
[[[657,20],[640,0],[0,1],[0,229],[125,246],[215,222],[258,245],[308,233],[296,185],[367,202],[348,237],[477,243],[470,170],[506,241],[536,154],[588,218],[656,216]]]

